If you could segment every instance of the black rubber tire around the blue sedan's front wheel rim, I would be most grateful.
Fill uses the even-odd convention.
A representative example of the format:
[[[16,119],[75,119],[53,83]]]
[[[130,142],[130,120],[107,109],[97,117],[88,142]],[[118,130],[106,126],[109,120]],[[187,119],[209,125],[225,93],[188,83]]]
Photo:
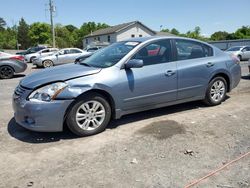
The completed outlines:
[[[78,125],[76,120],[76,114],[81,105],[91,101],[97,101],[98,103],[101,103],[103,105],[105,109],[105,117],[103,122],[97,128],[93,130],[85,130]],[[71,105],[69,113],[67,114],[66,117],[66,124],[74,134],[78,136],[90,136],[104,131],[107,125],[109,124],[110,119],[111,119],[111,107],[106,98],[98,93],[91,92],[76,99],[76,101]],[[84,122],[85,121],[86,120],[84,120]]]

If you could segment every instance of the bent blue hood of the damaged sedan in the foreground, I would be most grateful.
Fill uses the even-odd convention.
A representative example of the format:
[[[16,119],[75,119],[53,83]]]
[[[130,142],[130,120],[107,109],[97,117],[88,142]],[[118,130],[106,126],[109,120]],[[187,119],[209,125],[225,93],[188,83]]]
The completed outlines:
[[[32,73],[21,80],[20,84],[26,88],[34,89],[47,83],[70,80],[77,77],[96,74],[101,68],[87,67],[80,64],[67,64],[47,68]]]

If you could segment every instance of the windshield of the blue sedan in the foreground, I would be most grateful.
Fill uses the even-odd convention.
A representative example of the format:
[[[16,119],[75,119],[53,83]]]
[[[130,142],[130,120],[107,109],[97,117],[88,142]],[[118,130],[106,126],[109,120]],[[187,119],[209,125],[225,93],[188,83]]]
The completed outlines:
[[[92,67],[107,68],[118,63],[127,55],[139,42],[118,42],[106,48],[98,50],[89,58],[80,61],[80,64],[88,64]]]

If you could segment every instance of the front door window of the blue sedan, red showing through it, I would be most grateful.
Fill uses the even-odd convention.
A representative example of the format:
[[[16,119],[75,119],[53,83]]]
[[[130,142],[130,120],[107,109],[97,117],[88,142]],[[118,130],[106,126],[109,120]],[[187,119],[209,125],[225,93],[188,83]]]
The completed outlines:
[[[133,59],[143,60],[144,66],[170,62],[172,60],[170,40],[149,44],[139,50]]]

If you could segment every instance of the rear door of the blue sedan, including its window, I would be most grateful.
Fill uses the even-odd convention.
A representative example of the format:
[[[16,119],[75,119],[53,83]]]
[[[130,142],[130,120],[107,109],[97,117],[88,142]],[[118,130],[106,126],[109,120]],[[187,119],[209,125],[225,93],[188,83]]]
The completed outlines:
[[[203,96],[216,65],[213,49],[186,39],[175,39],[174,44],[178,70],[177,99]]]

